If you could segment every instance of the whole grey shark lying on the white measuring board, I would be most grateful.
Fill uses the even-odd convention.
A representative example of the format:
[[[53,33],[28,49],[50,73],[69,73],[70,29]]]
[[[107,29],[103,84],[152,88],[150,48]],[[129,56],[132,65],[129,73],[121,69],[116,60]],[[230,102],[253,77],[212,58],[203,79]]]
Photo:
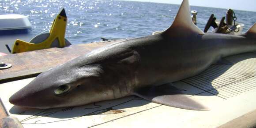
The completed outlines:
[[[136,95],[154,103],[209,110],[171,88],[222,57],[256,50],[256,25],[241,36],[204,33],[184,0],[164,32],[102,47],[43,72],[9,99],[21,107],[71,107]]]

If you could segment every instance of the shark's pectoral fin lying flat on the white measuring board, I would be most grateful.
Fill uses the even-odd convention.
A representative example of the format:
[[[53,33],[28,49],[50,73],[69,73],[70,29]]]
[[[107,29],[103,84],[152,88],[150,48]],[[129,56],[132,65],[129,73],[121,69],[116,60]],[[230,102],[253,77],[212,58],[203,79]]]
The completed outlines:
[[[183,94],[184,90],[170,84],[139,89],[136,95],[154,103],[188,110],[210,110]]]

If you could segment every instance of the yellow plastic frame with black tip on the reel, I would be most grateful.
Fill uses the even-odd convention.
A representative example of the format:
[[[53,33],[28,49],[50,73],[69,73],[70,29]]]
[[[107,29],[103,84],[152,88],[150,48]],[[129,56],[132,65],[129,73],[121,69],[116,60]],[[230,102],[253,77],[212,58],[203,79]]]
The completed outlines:
[[[51,48],[51,44],[55,39],[58,39],[60,47],[66,46],[65,31],[66,31],[67,20],[68,18],[66,16],[65,10],[63,9],[53,21],[53,25],[50,30],[50,35],[47,39],[45,39],[41,43],[29,43],[29,42],[17,39],[13,45],[11,53],[22,53],[27,51]]]

